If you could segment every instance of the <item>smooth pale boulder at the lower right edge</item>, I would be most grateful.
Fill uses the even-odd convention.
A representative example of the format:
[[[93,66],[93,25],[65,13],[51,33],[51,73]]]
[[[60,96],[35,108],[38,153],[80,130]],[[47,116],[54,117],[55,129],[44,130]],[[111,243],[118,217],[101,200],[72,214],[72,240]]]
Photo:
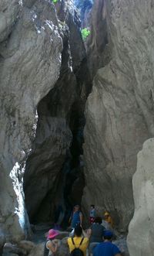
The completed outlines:
[[[132,178],[134,216],[127,238],[131,256],[154,255],[154,138],[147,140],[138,154],[137,170]]]

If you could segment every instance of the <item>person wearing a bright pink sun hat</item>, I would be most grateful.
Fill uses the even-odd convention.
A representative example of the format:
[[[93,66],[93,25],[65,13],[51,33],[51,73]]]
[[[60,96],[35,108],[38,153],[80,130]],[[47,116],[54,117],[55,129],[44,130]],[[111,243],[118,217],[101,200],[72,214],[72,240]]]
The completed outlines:
[[[47,241],[45,242],[44,248],[44,256],[48,256],[50,254],[54,254],[58,248],[58,241],[54,241],[55,237],[59,234],[58,230],[51,229],[47,235]]]

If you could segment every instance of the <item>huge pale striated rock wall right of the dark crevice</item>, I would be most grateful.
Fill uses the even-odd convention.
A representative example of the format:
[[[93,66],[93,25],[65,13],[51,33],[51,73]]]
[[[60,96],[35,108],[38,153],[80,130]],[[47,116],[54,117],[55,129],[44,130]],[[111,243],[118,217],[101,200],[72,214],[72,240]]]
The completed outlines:
[[[108,209],[119,228],[133,213],[132,175],[154,135],[152,2],[106,1],[110,62],[98,70],[85,108],[82,206]],[[87,211],[85,210],[87,213]]]

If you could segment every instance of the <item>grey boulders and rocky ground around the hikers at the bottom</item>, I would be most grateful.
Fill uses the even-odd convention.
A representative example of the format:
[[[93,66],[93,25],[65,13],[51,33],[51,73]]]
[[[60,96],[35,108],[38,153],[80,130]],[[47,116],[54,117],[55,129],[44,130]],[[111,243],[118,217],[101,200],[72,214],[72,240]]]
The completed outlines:
[[[31,241],[20,241],[18,244],[5,243],[2,256],[42,256],[45,246],[45,234],[51,227],[51,224],[32,225],[32,239]],[[69,256],[69,247],[67,245],[67,238],[69,237],[68,231],[59,231],[56,240],[59,244],[59,249],[55,256]],[[126,245],[126,236],[118,236],[115,241],[122,256],[129,256],[128,248]]]

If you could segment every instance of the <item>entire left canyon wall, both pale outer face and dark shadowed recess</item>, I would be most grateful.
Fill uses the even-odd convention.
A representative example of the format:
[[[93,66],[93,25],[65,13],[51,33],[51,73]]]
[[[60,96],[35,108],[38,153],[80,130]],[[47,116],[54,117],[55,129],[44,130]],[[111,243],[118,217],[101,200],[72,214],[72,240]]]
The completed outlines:
[[[54,221],[59,205],[80,203],[91,82],[72,2],[2,1],[0,14],[3,244],[30,236],[28,218]]]

